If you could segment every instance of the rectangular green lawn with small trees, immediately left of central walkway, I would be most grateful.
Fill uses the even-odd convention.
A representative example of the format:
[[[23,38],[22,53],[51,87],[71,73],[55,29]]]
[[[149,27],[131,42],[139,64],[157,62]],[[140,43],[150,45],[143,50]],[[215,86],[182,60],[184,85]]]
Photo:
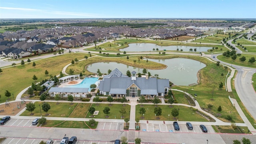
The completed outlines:
[[[126,109],[126,114],[124,114],[124,118],[130,118],[129,111],[131,106],[128,104],[125,104],[125,106],[123,106],[123,104],[112,104],[112,106],[109,106],[109,104],[99,104],[98,106],[96,106],[96,104],[92,104],[92,107],[99,111],[98,115],[94,115],[93,118],[106,118],[106,114],[104,114],[103,112],[105,107],[110,108],[110,114],[108,114],[109,117],[106,119],[121,119],[122,114],[119,112],[121,108]],[[90,116],[91,114],[88,112],[86,118],[92,118]]]

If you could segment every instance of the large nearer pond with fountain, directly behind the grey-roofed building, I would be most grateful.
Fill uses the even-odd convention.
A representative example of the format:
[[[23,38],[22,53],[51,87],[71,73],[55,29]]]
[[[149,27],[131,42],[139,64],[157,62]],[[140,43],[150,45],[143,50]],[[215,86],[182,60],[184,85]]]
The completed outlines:
[[[202,62],[191,60],[188,58],[172,58],[172,59],[148,59],[154,62],[167,65],[166,69],[163,70],[148,70],[152,76],[158,74],[159,78],[169,79],[170,82],[180,85],[188,86],[189,84],[197,83],[197,73],[200,69],[204,68],[206,65]],[[101,73],[108,73],[108,70],[114,70],[117,68],[123,74],[126,75],[126,71],[130,72],[140,72],[142,73],[143,68],[136,68],[133,66],[128,66],[126,64],[120,64],[118,62],[98,62],[90,64],[87,66],[87,70],[96,73],[100,69]]]

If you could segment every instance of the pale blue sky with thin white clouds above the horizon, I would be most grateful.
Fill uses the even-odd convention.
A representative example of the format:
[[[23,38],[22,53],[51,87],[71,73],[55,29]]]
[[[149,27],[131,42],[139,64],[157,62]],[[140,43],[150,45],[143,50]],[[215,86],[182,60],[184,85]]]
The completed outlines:
[[[256,0],[0,0],[0,18],[256,18]]]

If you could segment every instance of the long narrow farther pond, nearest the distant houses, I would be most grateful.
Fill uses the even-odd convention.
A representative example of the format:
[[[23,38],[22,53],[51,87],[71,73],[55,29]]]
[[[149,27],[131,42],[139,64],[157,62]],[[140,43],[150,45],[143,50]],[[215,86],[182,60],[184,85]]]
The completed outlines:
[[[158,50],[176,50],[177,48],[180,50],[183,50],[184,52],[190,52],[190,48],[192,48],[192,52],[194,52],[194,49],[196,48],[196,52],[207,52],[208,49],[212,49],[210,47],[206,46],[159,46],[157,44],[149,44],[149,43],[133,43],[133,44],[128,44],[129,47],[127,48],[122,48],[120,51],[126,51],[126,52],[149,52],[153,51],[153,48],[155,49],[154,51]]]

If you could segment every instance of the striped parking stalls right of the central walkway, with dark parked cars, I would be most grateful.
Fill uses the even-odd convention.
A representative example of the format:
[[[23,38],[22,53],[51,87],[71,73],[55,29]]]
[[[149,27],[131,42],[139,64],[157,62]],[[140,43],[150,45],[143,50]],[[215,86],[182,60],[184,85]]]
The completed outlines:
[[[185,124],[179,124],[180,130],[174,130],[172,124],[140,124],[140,130],[144,132],[186,132],[186,133],[206,133],[202,132],[199,125],[193,125],[193,130],[188,130]],[[215,133],[212,126],[206,126],[207,133]]]

